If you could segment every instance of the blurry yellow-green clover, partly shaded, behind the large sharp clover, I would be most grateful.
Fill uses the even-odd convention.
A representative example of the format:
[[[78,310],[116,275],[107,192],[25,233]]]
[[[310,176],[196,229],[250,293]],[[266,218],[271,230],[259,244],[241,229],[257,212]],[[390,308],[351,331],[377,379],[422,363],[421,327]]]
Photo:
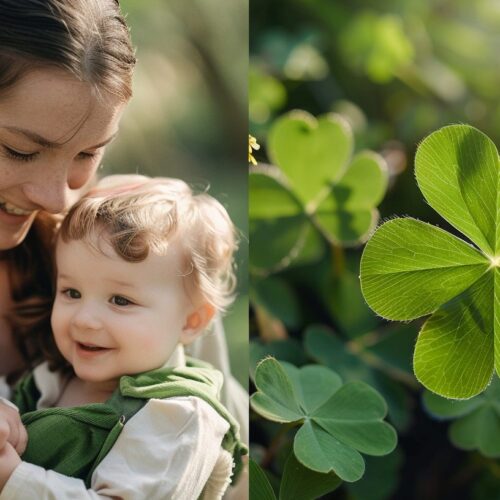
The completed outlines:
[[[252,168],[249,180],[254,271],[314,260],[325,240],[349,246],[366,238],[378,220],[387,168],[372,151],[351,159],[352,131],[342,117],[293,111],[273,124],[267,146],[274,166]]]

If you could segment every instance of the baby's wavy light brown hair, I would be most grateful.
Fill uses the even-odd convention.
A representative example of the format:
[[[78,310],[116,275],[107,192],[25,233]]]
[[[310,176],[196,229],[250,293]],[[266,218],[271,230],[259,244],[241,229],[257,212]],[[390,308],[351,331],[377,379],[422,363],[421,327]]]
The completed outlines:
[[[206,192],[195,194],[184,181],[105,178],[71,208],[59,231],[65,242],[85,240],[104,251],[101,236],[131,263],[150,252],[165,255],[175,238],[182,245],[188,296],[218,311],[233,300],[235,227],[221,203]]]

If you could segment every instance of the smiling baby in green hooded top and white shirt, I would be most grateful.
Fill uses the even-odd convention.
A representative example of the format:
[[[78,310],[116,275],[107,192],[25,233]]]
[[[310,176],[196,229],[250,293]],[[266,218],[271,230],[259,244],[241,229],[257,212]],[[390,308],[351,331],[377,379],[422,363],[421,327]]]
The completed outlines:
[[[0,499],[222,496],[247,450],[221,374],[183,346],[231,303],[235,248],[222,205],[176,179],[104,181],[70,210],[58,349],[13,397],[22,460],[0,413]]]

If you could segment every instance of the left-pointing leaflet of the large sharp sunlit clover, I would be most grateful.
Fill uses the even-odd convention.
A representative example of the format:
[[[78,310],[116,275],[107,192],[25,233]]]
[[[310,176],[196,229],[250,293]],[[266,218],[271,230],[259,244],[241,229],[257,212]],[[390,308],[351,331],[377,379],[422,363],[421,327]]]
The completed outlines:
[[[386,222],[361,259],[361,290],[380,316],[409,320],[434,312],[488,269],[476,249],[415,219]]]

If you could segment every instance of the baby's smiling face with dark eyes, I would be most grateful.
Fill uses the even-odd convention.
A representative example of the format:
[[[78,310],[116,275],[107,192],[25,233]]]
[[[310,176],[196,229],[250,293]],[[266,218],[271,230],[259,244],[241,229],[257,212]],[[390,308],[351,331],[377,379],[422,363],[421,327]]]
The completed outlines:
[[[192,305],[180,244],[137,263],[99,244],[105,255],[85,241],[59,240],[52,328],[79,378],[110,382],[162,366],[183,340]]]

